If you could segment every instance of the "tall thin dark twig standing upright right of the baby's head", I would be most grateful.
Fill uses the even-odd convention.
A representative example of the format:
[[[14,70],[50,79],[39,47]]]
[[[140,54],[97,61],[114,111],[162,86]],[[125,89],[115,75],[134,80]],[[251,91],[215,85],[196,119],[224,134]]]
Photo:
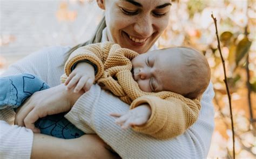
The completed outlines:
[[[223,69],[224,69],[224,82],[226,85],[226,90],[227,90],[227,96],[228,96],[228,102],[230,104],[230,114],[231,114],[231,127],[232,127],[232,138],[233,138],[233,158],[235,159],[235,147],[234,147],[234,125],[233,125],[233,114],[232,114],[232,107],[231,107],[231,96],[230,96],[230,90],[228,89],[228,83],[227,83],[227,76],[226,76],[226,69],[225,69],[225,61],[223,59],[222,53],[221,53],[221,49],[220,49],[220,40],[219,40],[219,35],[218,35],[218,29],[217,29],[217,19],[213,16],[213,13],[211,15],[213,21],[214,21],[214,25],[215,25],[215,30],[216,30],[216,37],[217,37],[217,41],[218,41],[218,49],[220,52],[220,57],[221,57],[221,61],[223,63]]]

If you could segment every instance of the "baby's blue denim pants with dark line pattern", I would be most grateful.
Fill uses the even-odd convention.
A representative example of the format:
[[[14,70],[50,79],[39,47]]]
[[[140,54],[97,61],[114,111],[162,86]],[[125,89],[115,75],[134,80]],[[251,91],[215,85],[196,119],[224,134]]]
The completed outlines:
[[[33,93],[50,88],[42,79],[31,74],[0,77],[0,109],[21,106]],[[47,99],[46,99],[47,100]],[[48,115],[35,122],[42,134],[62,139],[78,138],[84,134],[66,118],[65,113]]]

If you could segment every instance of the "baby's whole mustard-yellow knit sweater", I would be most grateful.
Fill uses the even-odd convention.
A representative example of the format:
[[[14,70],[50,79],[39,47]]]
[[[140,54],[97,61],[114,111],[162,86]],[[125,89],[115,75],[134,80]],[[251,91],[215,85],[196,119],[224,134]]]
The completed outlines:
[[[200,99],[191,100],[169,91],[149,93],[140,90],[131,73],[131,60],[137,55],[133,50],[111,42],[80,47],[66,61],[65,75],[61,81],[64,82],[70,75],[73,64],[89,60],[97,66],[95,82],[123,102],[131,104],[130,109],[145,103],[150,105],[150,119],[144,125],[133,126],[134,131],[157,139],[169,139],[183,134],[198,119]]]

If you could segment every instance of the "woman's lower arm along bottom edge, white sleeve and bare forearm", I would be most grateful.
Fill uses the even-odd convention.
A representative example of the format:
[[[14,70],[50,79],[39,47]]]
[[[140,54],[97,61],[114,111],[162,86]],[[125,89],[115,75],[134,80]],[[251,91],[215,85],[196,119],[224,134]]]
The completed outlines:
[[[0,158],[118,158],[97,135],[59,139],[0,121]]]

